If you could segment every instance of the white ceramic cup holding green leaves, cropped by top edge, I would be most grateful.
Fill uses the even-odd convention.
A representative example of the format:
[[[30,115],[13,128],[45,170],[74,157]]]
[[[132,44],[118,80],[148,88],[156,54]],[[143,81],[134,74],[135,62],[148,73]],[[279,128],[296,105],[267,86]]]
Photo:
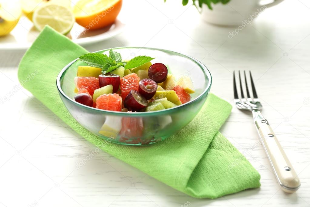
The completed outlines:
[[[252,21],[266,8],[277,5],[283,0],[274,0],[262,5],[260,0],[230,0],[228,4],[212,4],[210,10],[206,4],[202,5],[201,18],[215,25],[241,25],[245,20]]]

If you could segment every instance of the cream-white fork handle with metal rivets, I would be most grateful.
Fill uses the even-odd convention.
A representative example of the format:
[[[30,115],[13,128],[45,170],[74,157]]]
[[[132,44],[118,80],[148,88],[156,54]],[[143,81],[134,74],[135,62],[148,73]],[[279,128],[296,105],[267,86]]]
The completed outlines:
[[[254,121],[263,147],[267,153],[273,171],[283,191],[293,193],[300,187],[300,181],[290,160],[283,151],[276,135],[258,110],[254,110]]]

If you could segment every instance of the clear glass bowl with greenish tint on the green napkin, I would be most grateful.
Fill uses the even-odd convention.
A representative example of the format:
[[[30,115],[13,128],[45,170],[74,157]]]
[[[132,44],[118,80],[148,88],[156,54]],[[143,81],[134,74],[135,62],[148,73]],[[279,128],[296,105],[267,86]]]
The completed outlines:
[[[108,54],[110,49],[97,51]],[[118,112],[96,109],[74,101],[78,65],[86,65],[78,59],[64,67],[57,76],[57,88],[64,105],[71,115],[96,136],[123,145],[147,145],[162,141],[186,126],[203,106],[211,87],[211,74],[196,59],[163,49],[146,47],[117,47],[123,60],[134,56],[155,57],[152,63],[161,62],[175,78],[189,76],[195,93],[191,101],[173,108],[152,112]]]

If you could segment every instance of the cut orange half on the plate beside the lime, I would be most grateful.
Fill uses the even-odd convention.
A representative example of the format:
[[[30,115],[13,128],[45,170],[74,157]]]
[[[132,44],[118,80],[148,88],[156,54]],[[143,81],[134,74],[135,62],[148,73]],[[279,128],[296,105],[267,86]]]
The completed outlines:
[[[73,7],[76,22],[87,30],[111,25],[122,8],[122,0],[80,0]]]

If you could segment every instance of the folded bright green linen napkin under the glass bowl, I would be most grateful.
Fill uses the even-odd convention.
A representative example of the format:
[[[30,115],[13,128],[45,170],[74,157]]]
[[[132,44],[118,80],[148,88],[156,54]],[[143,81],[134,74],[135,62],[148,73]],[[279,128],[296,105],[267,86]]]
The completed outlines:
[[[20,83],[86,140],[176,190],[213,199],[260,186],[259,173],[219,133],[232,106],[213,94],[186,127],[150,146],[117,145],[89,133],[69,114],[56,88],[60,70],[84,53],[47,26],[20,61]]]

